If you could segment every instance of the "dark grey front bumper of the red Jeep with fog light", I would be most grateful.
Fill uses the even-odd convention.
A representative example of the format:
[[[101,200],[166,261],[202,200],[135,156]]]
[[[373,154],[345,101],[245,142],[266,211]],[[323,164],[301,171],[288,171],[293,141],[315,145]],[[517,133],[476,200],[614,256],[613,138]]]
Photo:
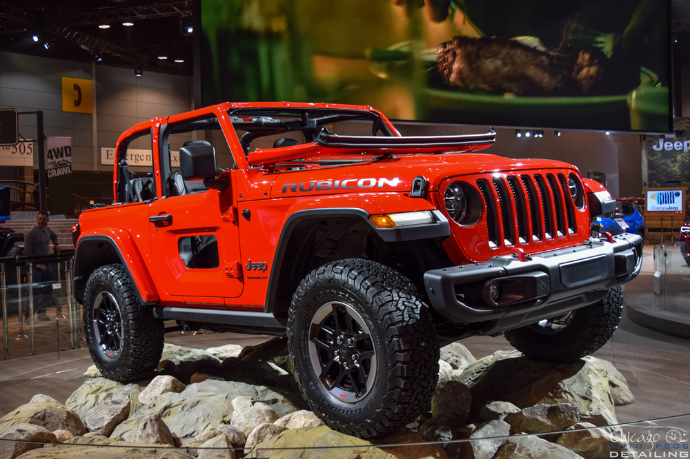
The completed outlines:
[[[424,287],[433,309],[452,323],[500,321],[481,332],[477,327],[492,334],[595,303],[635,278],[640,267],[642,238],[619,234],[541,254],[516,252],[432,269],[424,273]]]

